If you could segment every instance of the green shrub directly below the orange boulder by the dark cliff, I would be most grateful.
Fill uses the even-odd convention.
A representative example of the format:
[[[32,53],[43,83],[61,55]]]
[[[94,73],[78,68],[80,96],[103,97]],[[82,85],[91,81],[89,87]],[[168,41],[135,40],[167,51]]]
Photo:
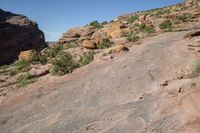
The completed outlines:
[[[19,72],[28,72],[31,69],[30,64],[28,61],[18,60],[15,62],[15,67]]]

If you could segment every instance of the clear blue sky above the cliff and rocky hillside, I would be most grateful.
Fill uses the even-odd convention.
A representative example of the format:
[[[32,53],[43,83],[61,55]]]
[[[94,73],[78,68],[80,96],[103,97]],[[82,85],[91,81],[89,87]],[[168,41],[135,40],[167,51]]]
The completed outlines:
[[[46,41],[56,41],[70,28],[122,14],[179,3],[182,0],[0,0],[0,8],[37,21]]]

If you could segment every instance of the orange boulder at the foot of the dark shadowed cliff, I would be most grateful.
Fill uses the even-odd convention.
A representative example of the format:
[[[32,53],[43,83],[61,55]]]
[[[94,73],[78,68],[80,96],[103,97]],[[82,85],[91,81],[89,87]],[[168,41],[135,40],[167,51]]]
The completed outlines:
[[[35,50],[21,51],[18,58],[19,60],[31,61],[35,54]]]

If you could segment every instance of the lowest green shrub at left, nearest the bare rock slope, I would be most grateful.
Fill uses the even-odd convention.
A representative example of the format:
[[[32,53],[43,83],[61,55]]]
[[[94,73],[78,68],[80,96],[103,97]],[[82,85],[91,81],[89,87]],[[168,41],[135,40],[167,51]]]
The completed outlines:
[[[36,81],[36,78],[33,77],[30,73],[22,74],[17,78],[17,87],[21,88],[24,87],[30,83],[33,83]]]

